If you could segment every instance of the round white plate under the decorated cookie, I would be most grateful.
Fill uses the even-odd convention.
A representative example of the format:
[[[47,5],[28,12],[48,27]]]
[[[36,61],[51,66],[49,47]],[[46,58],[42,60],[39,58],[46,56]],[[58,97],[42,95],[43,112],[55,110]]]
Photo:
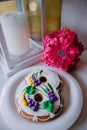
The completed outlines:
[[[0,111],[5,122],[12,130],[67,130],[80,115],[83,97],[79,84],[68,73],[54,69],[52,67],[45,67],[53,70],[59,74],[64,82],[62,95],[64,98],[64,111],[63,113],[53,121],[46,123],[34,123],[22,118],[15,108],[15,93],[17,87],[24,80],[24,77],[29,74],[32,69],[41,68],[30,67],[22,70],[14,75],[4,86],[0,97]]]

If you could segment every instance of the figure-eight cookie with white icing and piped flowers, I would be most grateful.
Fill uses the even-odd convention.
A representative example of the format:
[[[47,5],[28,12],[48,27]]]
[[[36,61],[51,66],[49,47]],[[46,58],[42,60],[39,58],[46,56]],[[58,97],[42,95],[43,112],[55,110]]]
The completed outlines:
[[[37,122],[56,118],[63,110],[58,74],[51,70],[32,71],[24,80],[25,86],[16,97],[18,113]]]

